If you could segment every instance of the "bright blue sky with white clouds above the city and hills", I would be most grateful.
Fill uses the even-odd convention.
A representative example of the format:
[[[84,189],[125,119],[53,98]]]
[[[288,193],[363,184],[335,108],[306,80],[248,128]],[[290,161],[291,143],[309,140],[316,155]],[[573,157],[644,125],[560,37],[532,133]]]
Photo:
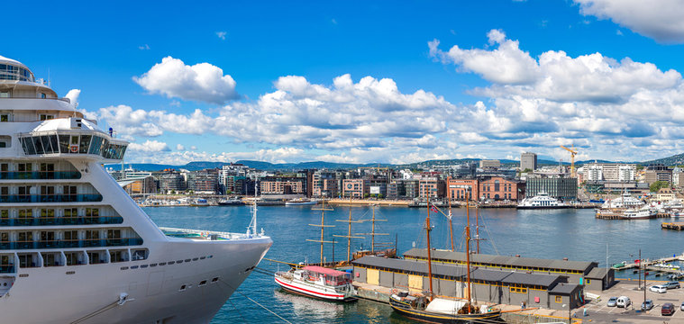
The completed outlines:
[[[80,90],[127,162],[684,151],[677,0],[6,5],[30,14],[0,55]]]

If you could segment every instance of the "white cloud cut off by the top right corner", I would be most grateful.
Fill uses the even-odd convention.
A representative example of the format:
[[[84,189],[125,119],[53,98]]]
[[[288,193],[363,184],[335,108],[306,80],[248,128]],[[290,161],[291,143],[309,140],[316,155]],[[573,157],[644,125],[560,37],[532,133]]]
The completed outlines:
[[[610,19],[661,43],[684,42],[684,2],[680,0],[574,0],[580,12]]]

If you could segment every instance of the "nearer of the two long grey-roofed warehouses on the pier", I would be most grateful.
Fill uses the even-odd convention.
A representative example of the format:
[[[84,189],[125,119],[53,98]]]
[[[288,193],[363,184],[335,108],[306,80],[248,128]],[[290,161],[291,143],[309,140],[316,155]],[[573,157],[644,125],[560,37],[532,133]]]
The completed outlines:
[[[354,283],[374,284],[415,293],[429,290],[427,263],[423,260],[361,257],[351,262]],[[433,293],[464,297],[467,267],[433,264]],[[478,302],[568,310],[581,305],[583,287],[568,284],[561,275],[525,274],[511,271],[470,268],[471,293]]]

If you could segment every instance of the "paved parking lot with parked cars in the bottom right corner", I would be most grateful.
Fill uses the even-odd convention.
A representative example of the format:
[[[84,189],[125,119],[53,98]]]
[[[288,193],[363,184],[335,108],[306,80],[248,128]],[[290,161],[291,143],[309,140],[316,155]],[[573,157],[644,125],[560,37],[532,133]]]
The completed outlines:
[[[651,282],[653,284],[664,284],[664,282]],[[653,293],[646,291],[646,298],[653,301],[651,311],[641,311],[643,302],[643,290],[637,290],[636,281],[621,281],[604,292],[589,292],[600,295],[600,300],[589,302],[583,308],[587,309],[588,316],[583,316],[583,310],[574,311],[577,318],[585,322],[592,323],[684,323],[684,311],[679,310],[679,306],[684,302],[684,288],[670,289],[667,293]],[[632,301],[632,305],[627,308],[608,307],[606,303],[610,297],[627,296]],[[674,314],[671,316],[661,315],[661,306],[666,302],[674,304]]]

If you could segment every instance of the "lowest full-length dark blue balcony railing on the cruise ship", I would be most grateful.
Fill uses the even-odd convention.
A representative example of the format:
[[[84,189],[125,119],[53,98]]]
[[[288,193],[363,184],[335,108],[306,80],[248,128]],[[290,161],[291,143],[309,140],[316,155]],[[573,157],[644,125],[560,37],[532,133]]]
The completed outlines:
[[[69,248],[69,247],[128,247],[142,245],[142,238],[89,238],[89,239],[55,239],[55,240],[23,240],[0,241],[0,250],[37,249],[37,248]]]

